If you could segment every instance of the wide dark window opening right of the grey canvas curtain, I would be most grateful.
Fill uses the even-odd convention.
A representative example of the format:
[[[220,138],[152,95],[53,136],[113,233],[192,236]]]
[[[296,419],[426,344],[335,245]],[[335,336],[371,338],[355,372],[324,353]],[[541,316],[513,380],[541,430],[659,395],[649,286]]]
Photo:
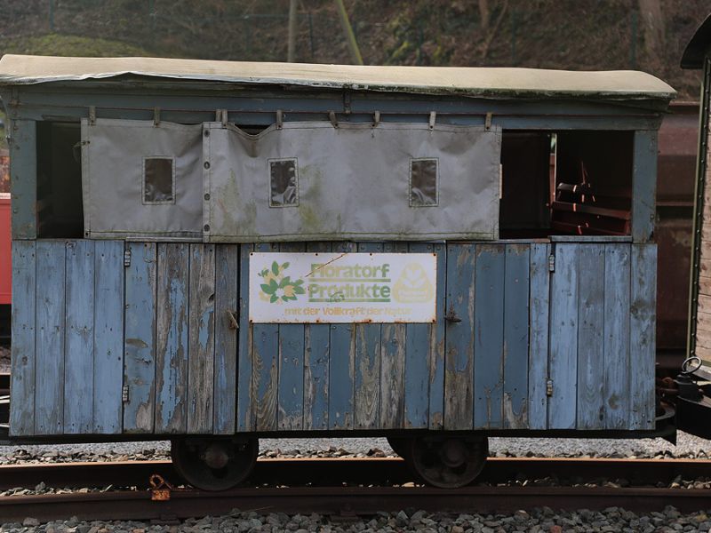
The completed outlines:
[[[629,235],[632,131],[504,131],[501,238]]]

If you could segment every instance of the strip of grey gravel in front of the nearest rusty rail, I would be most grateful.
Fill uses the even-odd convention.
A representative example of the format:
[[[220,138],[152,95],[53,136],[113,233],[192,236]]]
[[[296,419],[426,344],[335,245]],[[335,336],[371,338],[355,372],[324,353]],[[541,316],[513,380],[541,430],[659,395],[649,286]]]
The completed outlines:
[[[555,512],[548,507],[513,514],[443,514],[406,510],[396,513],[377,513],[355,521],[333,521],[319,514],[232,513],[212,517],[188,519],[180,524],[163,525],[142,521],[52,521],[40,524],[32,517],[22,523],[6,523],[0,531],[44,531],[46,533],[150,533],[224,531],[226,533],[349,533],[365,531],[419,533],[499,533],[501,531],[529,531],[531,533],[575,532],[675,532],[708,531],[711,511],[683,514],[674,507],[659,513],[631,513],[619,507],[602,512],[582,509],[575,512]]]

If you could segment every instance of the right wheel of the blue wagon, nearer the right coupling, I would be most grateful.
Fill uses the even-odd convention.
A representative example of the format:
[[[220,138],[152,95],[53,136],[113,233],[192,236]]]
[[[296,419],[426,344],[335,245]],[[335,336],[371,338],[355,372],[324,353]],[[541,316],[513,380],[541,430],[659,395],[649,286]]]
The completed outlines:
[[[407,454],[408,464],[427,484],[456,489],[482,472],[489,442],[486,437],[416,437]]]

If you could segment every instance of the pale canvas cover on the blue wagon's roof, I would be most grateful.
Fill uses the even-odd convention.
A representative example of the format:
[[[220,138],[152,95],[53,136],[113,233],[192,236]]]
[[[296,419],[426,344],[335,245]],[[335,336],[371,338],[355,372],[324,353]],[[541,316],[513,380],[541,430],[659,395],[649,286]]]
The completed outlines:
[[[499,98],[536,96],[668,100],[675,96],[674,89],[659,78],[634,70],[572,72],[536,68],[376,67],[12,54],[4,55],[0,60],[0,85],[43,84],[122,75]]]

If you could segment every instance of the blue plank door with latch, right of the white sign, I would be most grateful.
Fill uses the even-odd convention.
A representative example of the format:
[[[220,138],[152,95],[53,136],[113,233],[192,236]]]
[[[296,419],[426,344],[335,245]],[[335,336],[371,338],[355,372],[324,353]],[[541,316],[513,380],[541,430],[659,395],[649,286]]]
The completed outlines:
[[[448,246],[445,429],[542,423],[532,377],[547,370],[547,283],[545,243]]]

